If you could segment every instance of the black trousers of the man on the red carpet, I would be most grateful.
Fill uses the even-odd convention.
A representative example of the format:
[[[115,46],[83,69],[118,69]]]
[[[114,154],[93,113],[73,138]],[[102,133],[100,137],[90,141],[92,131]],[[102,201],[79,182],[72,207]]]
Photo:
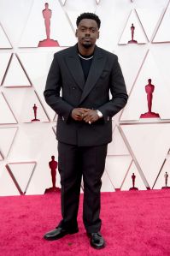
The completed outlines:
[[[88,233],[101,229],[100,189],[108,145],[73,146],[58,142],[58,170],[62,185],[62,222],[77,227],[81,179],[84,181],[83,221]]]

